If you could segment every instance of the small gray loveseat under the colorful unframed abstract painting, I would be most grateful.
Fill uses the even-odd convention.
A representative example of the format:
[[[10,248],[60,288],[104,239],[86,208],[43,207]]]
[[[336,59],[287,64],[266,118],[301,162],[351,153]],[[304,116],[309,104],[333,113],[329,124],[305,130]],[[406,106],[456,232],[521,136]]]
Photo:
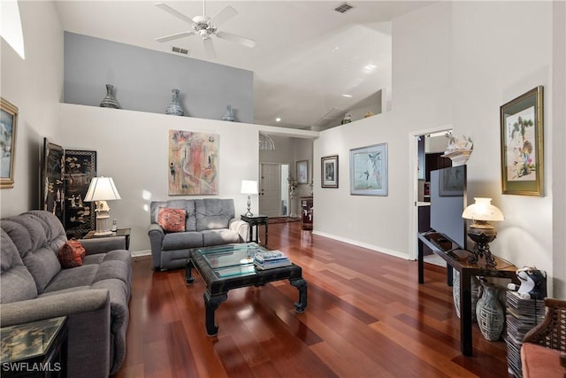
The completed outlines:
[[[184,232],[168,233],[159,226],[162,207],[185,210]],[[166,270],[185,267],[189,249],[247,241],[249,224],[234,218],[233,199],[173,199],[151,202],[148,233],[153,269]]]

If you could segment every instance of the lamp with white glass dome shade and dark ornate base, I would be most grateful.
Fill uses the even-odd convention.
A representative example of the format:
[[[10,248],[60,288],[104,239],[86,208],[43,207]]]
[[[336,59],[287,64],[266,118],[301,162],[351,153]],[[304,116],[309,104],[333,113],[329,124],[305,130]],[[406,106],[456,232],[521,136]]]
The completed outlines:
[[[486,265],[495,266],[495,258],[493,258],[492,252],[489,251],[489,243],[493,242],[497,232],[488,221],[504,220],[503,213],[491,204],[491,198],[476,197],[474,200],[476,203],[470,204],[462,213],[463,219],[472,220],[468,228],[468,236],[476,243],[473,251],[470,253],[468,262],[475,264],[478,262],[478,258],[485,256]]]

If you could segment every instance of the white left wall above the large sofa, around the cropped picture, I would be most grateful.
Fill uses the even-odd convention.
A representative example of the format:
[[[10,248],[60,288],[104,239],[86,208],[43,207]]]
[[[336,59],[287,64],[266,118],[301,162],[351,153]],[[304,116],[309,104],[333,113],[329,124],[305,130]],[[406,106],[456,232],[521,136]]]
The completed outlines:
[[[57,139],[63,92],[63,30],[51,2],[19,2],[26,59],[0,38],[0,91],[18,106],[14,188],[0,189],[0,216],[39,206],[43,137]]]

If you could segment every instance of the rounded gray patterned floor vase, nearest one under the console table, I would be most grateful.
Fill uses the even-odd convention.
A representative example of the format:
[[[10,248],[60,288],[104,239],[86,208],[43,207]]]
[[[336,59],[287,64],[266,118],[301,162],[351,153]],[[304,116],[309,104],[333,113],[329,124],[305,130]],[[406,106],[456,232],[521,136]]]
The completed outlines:
[[[505,325],[505,312],[499,301],[499,288],[492,283],[483,282],[481,297],[476,306],[476,317],[481,334],[489,341],[497,341]]]

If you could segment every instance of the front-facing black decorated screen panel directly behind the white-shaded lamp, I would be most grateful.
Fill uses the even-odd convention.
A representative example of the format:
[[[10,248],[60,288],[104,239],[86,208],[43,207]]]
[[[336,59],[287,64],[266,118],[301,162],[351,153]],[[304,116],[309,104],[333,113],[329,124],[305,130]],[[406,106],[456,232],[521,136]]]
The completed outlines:
[[[83,202],[96,177],[96,151],[65,150],[65,231],[67,238],[82,238],[96,229],[96,202]]]

